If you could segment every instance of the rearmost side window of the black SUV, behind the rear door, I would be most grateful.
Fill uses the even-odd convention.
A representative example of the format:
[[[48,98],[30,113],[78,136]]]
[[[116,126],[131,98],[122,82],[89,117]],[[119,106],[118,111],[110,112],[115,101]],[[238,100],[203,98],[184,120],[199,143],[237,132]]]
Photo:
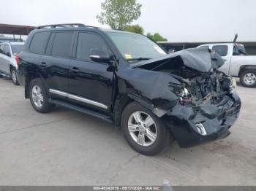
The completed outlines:
[[[45,46],[48,42],[50,32],[40,32],[34,34],[29,50],[33,53],[42,55],[45,52]]]

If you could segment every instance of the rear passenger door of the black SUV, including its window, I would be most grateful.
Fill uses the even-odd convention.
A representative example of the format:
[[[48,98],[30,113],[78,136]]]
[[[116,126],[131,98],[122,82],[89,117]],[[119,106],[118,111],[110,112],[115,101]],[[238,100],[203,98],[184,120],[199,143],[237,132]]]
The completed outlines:
[[[62,92],[69,91],[68,74],[74,34],[74,31],[53,32],[45,55],[39,58],[39,65],[51,97],[65,98]]]

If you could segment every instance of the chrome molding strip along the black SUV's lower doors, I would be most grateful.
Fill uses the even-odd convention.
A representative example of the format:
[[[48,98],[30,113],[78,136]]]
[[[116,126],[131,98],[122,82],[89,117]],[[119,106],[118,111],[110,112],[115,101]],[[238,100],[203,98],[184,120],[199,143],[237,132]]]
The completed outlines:
[[[103,109],[108,109],[108,106],[106,106],[102,103],[99,103],[97,101],[93,101],[93,100],[90,100],[90,99],[87,99],[87,98],[83,98],[83,97],[80,97],[78,95],[72,95],[70,93],[65,93],[63,91],[53,90],[53,89],[50,89],[49,91],[50,91],[50,93],[53,93],[53,94],[56,94],[56,95],[61,95],[65,98],[70,98],[70,99],[73,99],[73,100],[76,100],[76,101],[81,101],[81,102],[86,103],[86,104],[91,104],[93,106],[98,106],[98,107],[101,107]]]

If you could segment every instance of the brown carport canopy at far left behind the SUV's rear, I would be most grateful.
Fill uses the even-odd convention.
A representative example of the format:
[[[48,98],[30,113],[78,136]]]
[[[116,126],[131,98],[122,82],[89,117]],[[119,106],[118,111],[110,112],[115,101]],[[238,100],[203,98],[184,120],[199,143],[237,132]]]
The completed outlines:
[[[34,28],[34,26],[0,24],[0,34],[28,35]]]

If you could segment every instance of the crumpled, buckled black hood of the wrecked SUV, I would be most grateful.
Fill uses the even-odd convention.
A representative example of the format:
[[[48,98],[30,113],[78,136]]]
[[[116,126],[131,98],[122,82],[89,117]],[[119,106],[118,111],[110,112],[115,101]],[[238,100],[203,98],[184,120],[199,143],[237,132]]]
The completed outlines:
[[[209,50],[208,48],[189,48],[186,50],[173,52],[159,58],[154,58],[147,61],[140,61],[133,64],[132,68],[177,57],[180,57],[182,59],[184,66],[203,73],[212,71],[212,69],[219,69],[219,67],[225,63],[221,56],[218,55],[217,52],[215,52],[214,50]]]

